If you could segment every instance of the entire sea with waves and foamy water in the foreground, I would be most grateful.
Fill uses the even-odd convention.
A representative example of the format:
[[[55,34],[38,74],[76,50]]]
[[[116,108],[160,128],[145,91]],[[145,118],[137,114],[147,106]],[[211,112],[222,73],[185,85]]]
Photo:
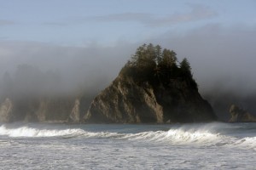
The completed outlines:
[[[1,124],[0,169],[256,169],[256,123]]]

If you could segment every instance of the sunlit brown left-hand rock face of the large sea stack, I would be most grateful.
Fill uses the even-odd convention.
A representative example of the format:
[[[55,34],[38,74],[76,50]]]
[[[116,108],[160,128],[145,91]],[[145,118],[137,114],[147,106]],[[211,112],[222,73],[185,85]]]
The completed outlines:
[[[150,85],[116,78],[90,105],[85,122],[163,122],[163,108]]]

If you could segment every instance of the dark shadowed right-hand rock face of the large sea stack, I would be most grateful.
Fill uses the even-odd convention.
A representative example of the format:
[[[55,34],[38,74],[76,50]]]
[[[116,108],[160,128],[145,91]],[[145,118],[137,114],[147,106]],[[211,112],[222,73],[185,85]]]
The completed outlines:
[[[171,79],[154,87],[157,102],[163,107],[164,122],[210,122],[217,117],[207,100],[202,99],[189,80]]]

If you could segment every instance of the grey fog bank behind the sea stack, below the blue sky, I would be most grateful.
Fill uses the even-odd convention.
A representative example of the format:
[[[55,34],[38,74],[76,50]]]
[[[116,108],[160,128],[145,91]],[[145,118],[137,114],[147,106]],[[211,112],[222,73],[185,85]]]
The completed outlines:
[[[10,77],[23,92],[22,87],[37,91],[40,84],[42,89],[44,87],[43,93],[50,94],[78,89],[98,92],[113,81],[139,45],[153,42],[173,49],[178,60],[189,59],[200,92],[207,99],[224,100],[225,96],[229,99],[233,96],[230,102],[234,100],[251,108],[246,105],[253,103],[251,101],[256,94],[255,28],[212,24],[183,34],[166,32],[147,40],[120,41],[108,47],[96,42],[68,47],[2,40],[0,76]],[[19,77],[23,77],[23,84],[17,81]],[[45,88],[45,84],[49,87]]]

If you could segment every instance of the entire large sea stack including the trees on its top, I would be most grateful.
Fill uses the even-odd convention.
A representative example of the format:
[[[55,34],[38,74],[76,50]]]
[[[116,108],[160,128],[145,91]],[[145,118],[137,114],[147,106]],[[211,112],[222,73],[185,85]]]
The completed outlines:
[[[84,115],[88,123],[211,122],[217,117],[202,99],[189,61],[159,45],[137,48],[119,76],[98,94]]]

